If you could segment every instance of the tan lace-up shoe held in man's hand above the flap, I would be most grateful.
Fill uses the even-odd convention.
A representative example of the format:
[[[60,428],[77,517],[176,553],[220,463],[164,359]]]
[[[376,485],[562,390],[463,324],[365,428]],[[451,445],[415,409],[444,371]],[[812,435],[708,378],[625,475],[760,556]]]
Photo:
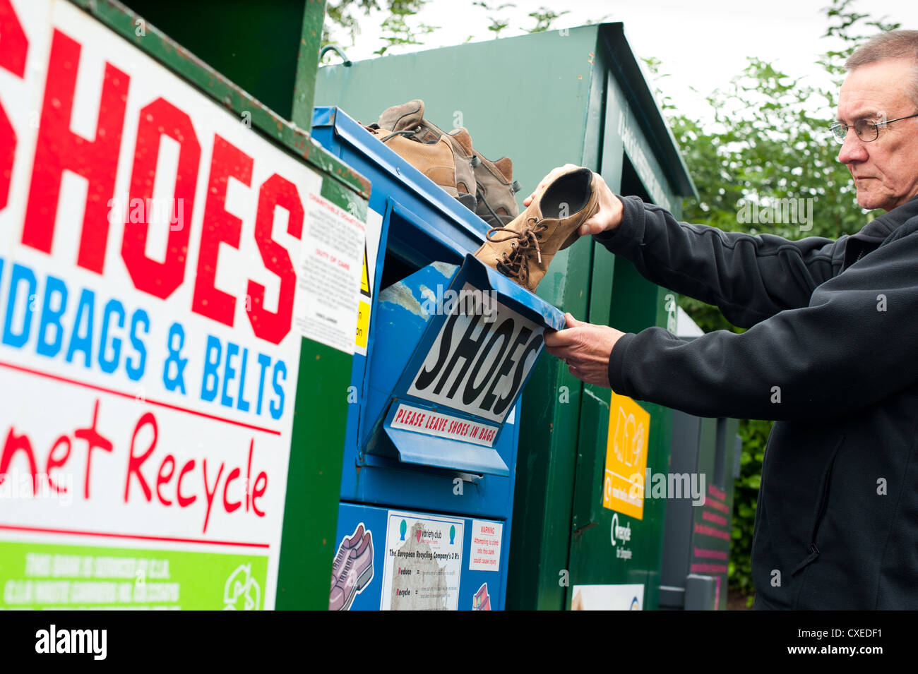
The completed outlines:
[[[599,208],[593,171],[562,173],[507,227],[491,227],[475,257],[532,293],[554,254],[577,240],[577,229]]]

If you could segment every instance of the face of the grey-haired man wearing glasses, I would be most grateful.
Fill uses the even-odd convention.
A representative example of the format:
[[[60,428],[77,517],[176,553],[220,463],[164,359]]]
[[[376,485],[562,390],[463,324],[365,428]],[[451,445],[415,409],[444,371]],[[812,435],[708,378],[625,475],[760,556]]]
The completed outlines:
[[[838,98],[838,121],[854,124],[896,119],[918,113],[909,94],[914,86],[914,64],[909,59],[885,59],[848,73]],[[879,127],[879,138],[864,142],[848,129],[838,160],[855,180],[862,208],[890,211],[918,194],[918,117]]]

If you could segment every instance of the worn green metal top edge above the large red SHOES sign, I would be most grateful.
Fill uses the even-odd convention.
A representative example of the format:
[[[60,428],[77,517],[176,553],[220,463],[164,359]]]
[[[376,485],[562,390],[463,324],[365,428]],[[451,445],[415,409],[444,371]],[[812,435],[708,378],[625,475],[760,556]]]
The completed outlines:
[[[271,138],[290,154],[307,160],[319,171],[342,182],[364,199],[370,198],[370,181],[322,148],[309,136],[308,131],[279,116],[274,110],[255,99],[252,94],[230,82],[227,77],[198,59],[174,39],[146,22],[129,7],[122,5],[118,0],[67,0],[67,2],[95,17],[154,61],[162,63],[187,83],[195,86],[218,105],[222,105],[237,115],[249,113],[252,127],[258,128],[263,135]],[[143,35],[138,35],[136,31],[139,19],[144,22]]]

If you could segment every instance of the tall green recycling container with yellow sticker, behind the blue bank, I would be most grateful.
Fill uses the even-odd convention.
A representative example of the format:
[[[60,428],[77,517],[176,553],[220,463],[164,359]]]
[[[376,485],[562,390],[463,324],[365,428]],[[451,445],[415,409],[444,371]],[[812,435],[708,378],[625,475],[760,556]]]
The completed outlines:
[[[487,158],[509,157],[520,203],[568,162],[676,216],[695,193],[620,23],[319,68],[316,105],[364,124],[415,98]],[[537,294],[599,325],[674,329],[676,297],[590,239],[554,257]],[[633,492],[667,470],[671,415],[540,360],[522,395],[508,609],[657,607],[666,503]]]

